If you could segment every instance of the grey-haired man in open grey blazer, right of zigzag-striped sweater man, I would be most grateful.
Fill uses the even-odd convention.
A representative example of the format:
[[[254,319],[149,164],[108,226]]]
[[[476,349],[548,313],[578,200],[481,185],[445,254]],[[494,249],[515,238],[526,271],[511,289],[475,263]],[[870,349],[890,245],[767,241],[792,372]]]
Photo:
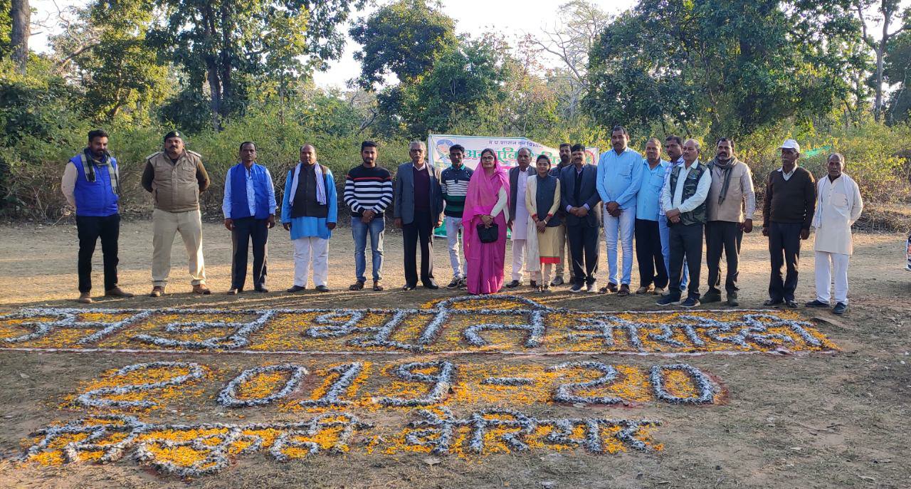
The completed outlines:
[[[440,170],[424,158],[427,147],[412,141],[408,149],[411,161],[399,165],[395,172],[395,227],[404,236],[404,287],[417,287],[417,243],[421,242],[421,283],[427,289],[439,289],[434,281],[434,228],[443,223],[443,192]]]

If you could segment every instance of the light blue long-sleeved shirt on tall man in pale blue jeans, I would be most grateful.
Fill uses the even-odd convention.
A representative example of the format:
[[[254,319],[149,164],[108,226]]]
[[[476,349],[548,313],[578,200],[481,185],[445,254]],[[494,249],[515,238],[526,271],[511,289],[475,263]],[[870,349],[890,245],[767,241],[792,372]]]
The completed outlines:
[[[598,160],[598,193],[601,201],[617,202],[620,209],[636,207],[642,181],[642,155],[630,148],[620,154],[610,149]]]

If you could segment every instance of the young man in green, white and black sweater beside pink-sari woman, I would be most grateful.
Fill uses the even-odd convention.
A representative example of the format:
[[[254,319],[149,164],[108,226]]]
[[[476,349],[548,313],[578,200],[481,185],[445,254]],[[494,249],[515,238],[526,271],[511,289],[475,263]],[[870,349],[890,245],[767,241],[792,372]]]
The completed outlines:
[[[449,264],[453,268],[453,280],[446,289],[456,289],[465,284],[465,274],[468,267],[465,254],[459,260],[458,241],[459,232],[462,230],[462,211],[465,210],[465,196],[468,193],[468,180],[473,173],[470,168],[462,164],[465,158],[465,148],[462,145],[449,147],[449,160],[452,166],[443,170],[440,175],[441,188],[443,189],[443,222],[446,226],[446,240],[449,242]]]

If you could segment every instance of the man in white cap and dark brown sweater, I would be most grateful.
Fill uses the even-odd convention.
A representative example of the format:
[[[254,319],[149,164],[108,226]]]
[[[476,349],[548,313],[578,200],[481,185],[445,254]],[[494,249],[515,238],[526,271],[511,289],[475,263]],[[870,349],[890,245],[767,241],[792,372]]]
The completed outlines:
[[[782,144],[782,168],[769,173],[763,202],[763,236],[769,237],[772,277],[766,306],[787,304],[797,307],[797,261],[800,241],[810,237],[810,224],[816,207],[813,174],[797,166],[800,145],[793,139]],[[782,278],[782,265],[787,275]]]

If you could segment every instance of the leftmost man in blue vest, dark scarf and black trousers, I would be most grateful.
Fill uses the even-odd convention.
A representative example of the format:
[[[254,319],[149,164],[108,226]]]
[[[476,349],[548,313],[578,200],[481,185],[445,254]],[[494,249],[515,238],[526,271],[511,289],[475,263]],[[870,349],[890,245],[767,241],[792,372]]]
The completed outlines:
[[[60,188],[70,206],[76,208],[79,236],[79,302],[92,302],[92,255],[101,239],[105,262],[105,295],[133,297],[117,285],[120,214],[117,159],[107,152],[107,132],[88,133],[88,148],[71,158],[64,169]]]

